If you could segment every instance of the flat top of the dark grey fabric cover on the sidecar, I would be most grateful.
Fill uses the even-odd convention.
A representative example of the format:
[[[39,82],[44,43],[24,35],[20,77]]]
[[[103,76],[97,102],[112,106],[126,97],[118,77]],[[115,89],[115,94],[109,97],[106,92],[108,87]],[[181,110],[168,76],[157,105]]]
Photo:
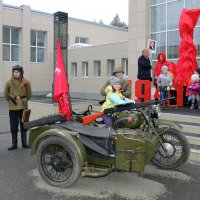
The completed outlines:
[[[82,123],[76,121],[67,121],[60,124],[62,128],[66,128],[70,131],[75,131],[81,135],[97,137],[97,138],[109,138],[110,132],[108,128],[94,127],[94,126],[83,126]]]

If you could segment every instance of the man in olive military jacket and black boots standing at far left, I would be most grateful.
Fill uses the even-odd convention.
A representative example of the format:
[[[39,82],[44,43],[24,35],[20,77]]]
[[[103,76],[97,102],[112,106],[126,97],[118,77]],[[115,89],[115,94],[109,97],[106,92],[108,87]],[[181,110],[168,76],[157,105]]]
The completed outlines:
[[[28,108],[28,100],[31,97],[31,84],[23,77],[24,70],[20,65],[12,68],[12,77],[6,82],[4,95],[8,101],[10,130],[12,134],[12,145],[8,150],[17,149],[17,133],[20,124],[21,142],[23,148],[29,148],[27,144],[27,133],[23,127],[22,114]]]

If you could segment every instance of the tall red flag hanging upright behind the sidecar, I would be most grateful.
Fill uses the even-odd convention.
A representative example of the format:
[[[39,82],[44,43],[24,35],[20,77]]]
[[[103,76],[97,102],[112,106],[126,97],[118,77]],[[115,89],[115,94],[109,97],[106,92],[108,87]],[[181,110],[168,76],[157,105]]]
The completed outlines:
[[[71,104],[69,100],[69,87],[66,77],[65,65],[62,57],[60,41],[56,41],[56,69],[54,78],[54,100],[58,103],[59,111],[68,120],[72,118]]]

